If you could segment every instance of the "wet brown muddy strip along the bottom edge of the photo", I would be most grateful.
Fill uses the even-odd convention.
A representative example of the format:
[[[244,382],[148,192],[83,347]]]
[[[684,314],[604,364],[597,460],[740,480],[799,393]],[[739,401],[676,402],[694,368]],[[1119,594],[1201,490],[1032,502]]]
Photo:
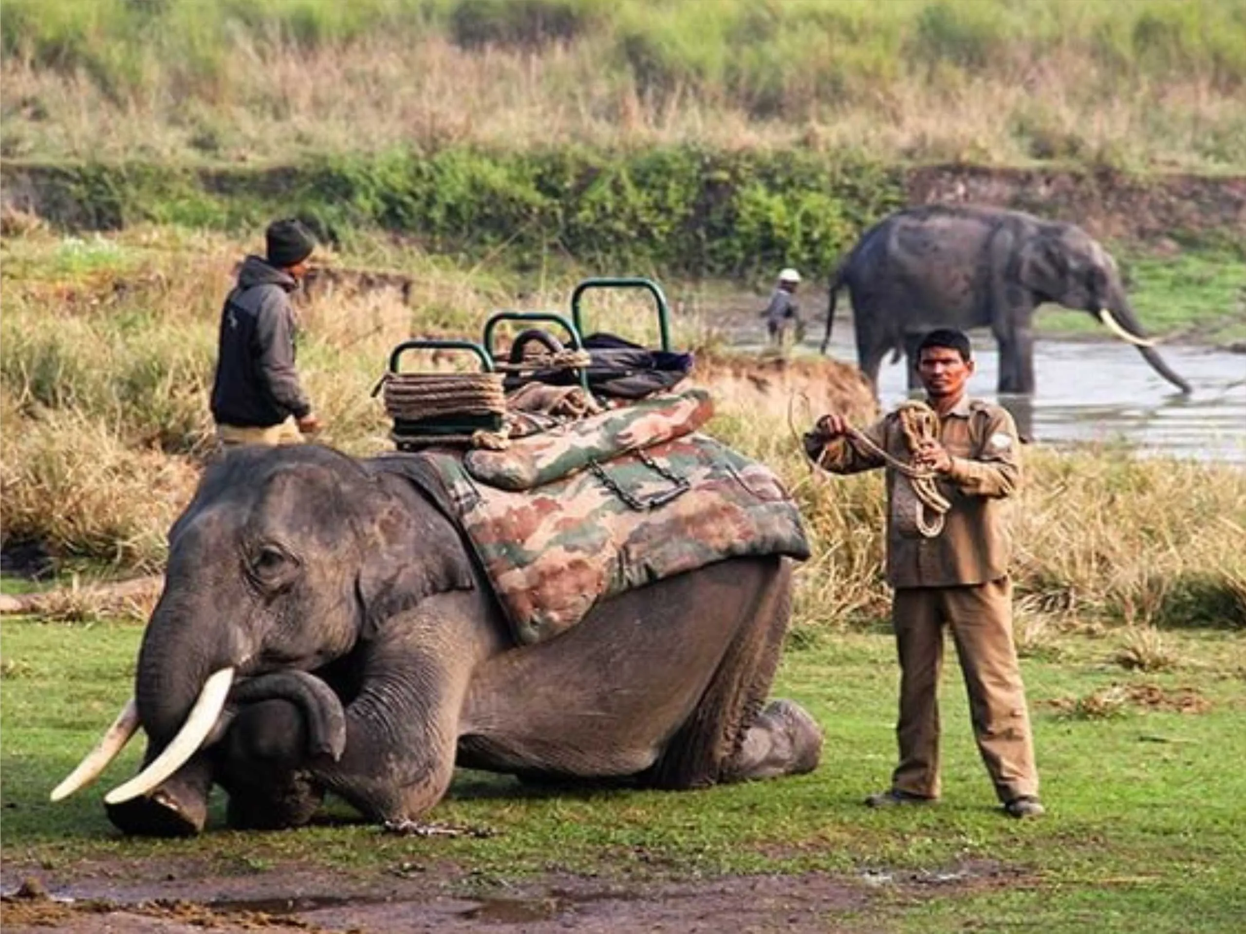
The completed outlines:
[[[723,875],[697,880],[628,880],[552,874],[481,884],[452,866],[401,863],[374,875],[274,868],[211,875],[202,867],[117,861],[76,868],[69,878],[34,869],[10,882],[5,932],[78,934],[201,930],[386,932],[496,929],[546,934],[573,929],[826,932],[881,930],[891,907],[933,892],[956,894],[1024,884],[1025,873],[991,861],[946,870],[868,868],[831,875]],[[21,869],[21,867],[16,867]],[[27,869],[30,869],[27,867]],[[135,875],[150,873],[135,882]],[[118,880],[122,875],[127,880]],[[152,882],[151,879],[158,879]]]

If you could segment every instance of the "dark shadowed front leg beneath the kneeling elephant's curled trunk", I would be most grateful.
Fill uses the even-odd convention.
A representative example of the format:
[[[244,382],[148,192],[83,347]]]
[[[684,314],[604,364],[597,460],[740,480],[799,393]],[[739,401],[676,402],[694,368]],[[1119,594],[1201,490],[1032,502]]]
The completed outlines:
[[[234,829],[300,827],[312,819],[324,790],[299,768],[309,727],[304,711],[287,700],[243,707],[214,751],[216,780],[228,792],[227,819]]]

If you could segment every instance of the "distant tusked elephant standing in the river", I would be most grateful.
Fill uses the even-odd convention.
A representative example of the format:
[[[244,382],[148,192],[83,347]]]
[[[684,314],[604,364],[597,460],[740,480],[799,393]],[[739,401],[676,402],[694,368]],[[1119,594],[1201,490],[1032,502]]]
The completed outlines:
[[[877,390],[888,350],[908,361],[934,328],[991,326],[999,345],[1002,394],[1033,395],[1030,320],[1044,301],[1090,311],[1139,349],[1182,392],[1190,385],[1154,350],[1125,298],[1116,264],[1082,228],[1001,208],[931,204],[900,210],[870,228],[831,280],[822,352],[835,298],[847,286],[857,364]]]

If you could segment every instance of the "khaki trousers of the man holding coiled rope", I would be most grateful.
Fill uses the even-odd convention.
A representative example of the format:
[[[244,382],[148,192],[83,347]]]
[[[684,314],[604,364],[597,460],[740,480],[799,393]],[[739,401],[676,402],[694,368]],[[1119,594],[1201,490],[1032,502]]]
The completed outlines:
[[[895,593],[891,611],[900,654],[900,765],[892,787],[939,796],[938,680],[943,626],[952,630],[969,692],[973,737],[1003,802],[1038,796],[1025,687],[1012,638],[1012,582],[915,587]]]

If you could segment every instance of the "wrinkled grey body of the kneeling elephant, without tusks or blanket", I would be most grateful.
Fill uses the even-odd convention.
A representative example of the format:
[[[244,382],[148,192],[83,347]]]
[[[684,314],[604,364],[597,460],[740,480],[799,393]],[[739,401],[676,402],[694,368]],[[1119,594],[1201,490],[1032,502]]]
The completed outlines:
[[[325,792],[416,821],[456,763],[667,788],[806,772],[820,729],[764,707],[790,589],[786,558],[724,560],[518,648],[415,486],[326,447],[240,448],[169,532],[135,679],[145,768],[181,747],[223,670],[228,697],[155,787],[106,796],[108,814],[196,833],[221,785],[233,827],[298,826]]]

